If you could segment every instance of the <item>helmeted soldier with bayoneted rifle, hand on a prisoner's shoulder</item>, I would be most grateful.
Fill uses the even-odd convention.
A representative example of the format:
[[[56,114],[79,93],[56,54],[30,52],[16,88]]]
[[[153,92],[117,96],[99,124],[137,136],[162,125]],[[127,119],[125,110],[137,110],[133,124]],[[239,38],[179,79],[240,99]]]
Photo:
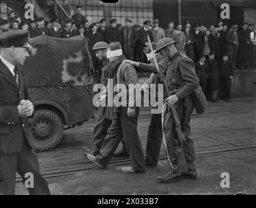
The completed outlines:
[[[182,178],[197,179],[195,146],[191,140],[190,120],[194,110],[191,93],[199,86],[199,78],[195,73],[193,60],[179,53],[175,44],[172,38],[163,38],[157,42],[155,51],[155,53],[160,53],[167,62],[172,62],[167,68],[166,81],[163,72],[159,73],[168,88],[169,95],[165,101],[168,109],[165,112],[163,129],[171,168],[165,175],[157,177],[158,181],[163,183],[171,183]],[[133,62],[135,66],[139,64]],[[156,66],[155,72],[159,72],[158,64]],[[152,66],[148,65],[148,68]],[[180,137],[184,137],[184,140]],[[182,168],[181,160],[182,157],[184,158],[183,151],[185,166],[187,166],[185,168]]]

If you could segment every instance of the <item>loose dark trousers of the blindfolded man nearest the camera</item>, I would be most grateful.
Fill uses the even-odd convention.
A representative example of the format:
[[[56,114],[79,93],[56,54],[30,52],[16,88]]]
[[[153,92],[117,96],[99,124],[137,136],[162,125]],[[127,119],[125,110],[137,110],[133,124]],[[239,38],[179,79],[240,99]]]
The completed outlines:
[[[103,147],[99,155],[96,156],[96,160],[101,166],[105,167],[110,162],[123,136],[127,151],[130,154],[133,170],[135,172],[145,172],[142,144],[137,131],[139,111],[136,108],[135,118],[128,118],[127,107],[120,107],[120,113],[114,116],[104,139]]]

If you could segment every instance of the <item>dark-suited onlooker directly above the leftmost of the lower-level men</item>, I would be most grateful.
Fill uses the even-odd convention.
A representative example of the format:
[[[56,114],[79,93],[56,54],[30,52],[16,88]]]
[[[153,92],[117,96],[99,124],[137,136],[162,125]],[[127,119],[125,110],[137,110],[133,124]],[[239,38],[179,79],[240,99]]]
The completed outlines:
[[[204,33],[200,31],[199,24],[195,24],[195,43],[194,43],[194,54],[195,61],[199,61],[200,55],[202,55],[202,51],[204,50]]]

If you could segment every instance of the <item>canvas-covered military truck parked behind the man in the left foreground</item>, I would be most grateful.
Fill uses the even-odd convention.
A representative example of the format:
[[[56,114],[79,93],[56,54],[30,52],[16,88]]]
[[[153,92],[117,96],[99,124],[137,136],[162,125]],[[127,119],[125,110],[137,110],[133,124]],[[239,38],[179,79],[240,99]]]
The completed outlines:
[[[84,36],[59,39],[43,34],[29,44],[33,48],[24,73],[35,103],[31,131],[35,149],[47,151],[61,142],[65,129],[93,116],[92,67]]]

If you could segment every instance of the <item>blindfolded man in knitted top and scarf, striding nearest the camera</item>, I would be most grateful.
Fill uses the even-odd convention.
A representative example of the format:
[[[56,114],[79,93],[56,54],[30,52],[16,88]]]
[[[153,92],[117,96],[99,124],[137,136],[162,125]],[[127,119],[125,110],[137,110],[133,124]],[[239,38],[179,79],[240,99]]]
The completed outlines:
[[[118,90],[113,93],[113,96],[120,93],[125,93],[127,98],[126,102],[121,102],[121,106],[116,106],[114,102],[114,120],[112,121],[107,135],[104,139],[103,147],[99,152],[99,155],[93,156],[88,154],[87,157],[90,161],[95,162],[101,167],[106,167],[108,162],[118,148],[118,144],[123,140],[127,146],[131,157],[131,166],[121,168],[123,173],[140,173],[145,172],[144,155],[142,150],[142,144],[138,137],[137,125],[138,125],[138,114],[140,109],[136,107],[136,93],[132,93],[135,90],[134,85],[138,84],[138,75],[135,68],[124,62],[125,57],[121,49],[120,42],[114,42],[110,44],[108,49],[108,59],[111,63],[114,63],[114,67],[111,72],[114,78],[114,86],[122,85],[125,86],[126,90]],[[114,90],[115,91],[115,90]],[[126,92],[125,92],[126,91]],[[108,96],[110,96],[108,89]],[[110,103],[108,103],[110,105]]]

